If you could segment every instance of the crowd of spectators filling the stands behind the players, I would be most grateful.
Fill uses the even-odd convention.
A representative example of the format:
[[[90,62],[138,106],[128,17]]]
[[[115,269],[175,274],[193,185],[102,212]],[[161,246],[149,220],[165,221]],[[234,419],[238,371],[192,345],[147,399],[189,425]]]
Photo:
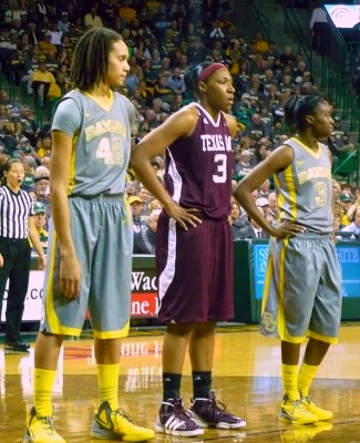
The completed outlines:
[[[88,29],[110,27],[123,35],[130,48],[130,72],[121,92],[136,109],[138,132],[133,143],[161,125],[173,112],[196,100],[184,83],[184,71],[188,65],[215,61],[228,68],[236,87],[232,112],[238,122],[238,135],[233,141],[234,186],[289,137],[284,123],[284,105],[288,97],[320,93],[301,53],[294,53],[288,44],[277,49],[261,32],[250,40],[244,38],[233,22],[236,2],[10,0],[2,8],[2,79],[14,82],[18,99],[10,100],[6,87],[0,91],[0,164],[9,157],[22,159],[27,172],[23,186],[44,209],[43,230],[51,216],[51,116],[54,104],[70,89],[72,51]],[[27,103],[19,103],[23,96]],[[48,115],[48,124],[42,127],[33,116],[39,106]],[[354,146],[340,117],[333,115],[333,120],[335,128],[328,145],[337,165],[341,154],[351,152]],[[154,158],[153,167],[162,182],[164,158]],[[358,234],[360,216],[353,205],[357,208],[360,204],[359,188],[344,192],[341,186],[335,182],[335,187],[340,187],[338,230],[356,226],[353,231]],[[128,198],[136,251],[152,254],[160,206],[131,172]],[[265,216],[275,223],[278,208],[271,182],[267,181],[254,198]],[[233,202],[229,222],[234,238],[265,237],[266,234],[259,233],[243,213]]]

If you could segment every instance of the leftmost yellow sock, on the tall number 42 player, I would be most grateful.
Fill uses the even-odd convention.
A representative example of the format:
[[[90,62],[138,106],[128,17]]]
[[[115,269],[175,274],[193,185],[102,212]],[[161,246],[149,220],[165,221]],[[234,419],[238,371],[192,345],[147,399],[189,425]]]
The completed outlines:
[[[33,375],[33,403],[37,410],[37,415],[52,416],[51,398],[56,371],[35,368]]]

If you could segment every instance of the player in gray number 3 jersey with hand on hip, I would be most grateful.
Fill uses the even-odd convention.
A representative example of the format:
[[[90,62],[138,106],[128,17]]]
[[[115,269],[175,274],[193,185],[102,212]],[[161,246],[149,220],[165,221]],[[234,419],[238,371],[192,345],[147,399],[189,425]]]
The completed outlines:
[[[260,332],[281,340],[284,398],[279,419],[294,424],[331,420],[309,388],[341,319],[341,274],[332,241],[332,183],[328,148],[331,107],[319,96],[291,96],[285,116],[295,137],[277,147],[235,190],[245,210],[272,236],[264,286]],[[271,226],[250,193],[274,174],[279,223]],[[300,369],[301,343],[306,346]]]

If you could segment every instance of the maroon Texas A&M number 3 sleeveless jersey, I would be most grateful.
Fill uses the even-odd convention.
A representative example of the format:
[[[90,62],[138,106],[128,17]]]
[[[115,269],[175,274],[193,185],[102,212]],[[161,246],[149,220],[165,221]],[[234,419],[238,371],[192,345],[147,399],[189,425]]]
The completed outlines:
[[[234,155],[232,135],[223,113],[216,122],[198,103],[193,134],[166,150],[165,187],[185,208],[199,208],[205,217],[224,219],[230,213]]]

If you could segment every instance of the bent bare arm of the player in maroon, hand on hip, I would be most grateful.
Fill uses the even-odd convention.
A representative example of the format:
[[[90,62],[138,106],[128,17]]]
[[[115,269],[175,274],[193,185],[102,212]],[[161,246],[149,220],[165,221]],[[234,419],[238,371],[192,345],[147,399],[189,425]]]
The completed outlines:
[[[166,193],[151,165],[152,158],[160,155],[177,138],[192,134],[196,126],[197,112],[195,106],[181,110],[171,115],[161,126],[150,132],[134,148],[131,166],[142,184],[157,198],[169,217],[186,229],[186,224],[196,226],[200,220],[192,214],[192,209],[181,208]]]

